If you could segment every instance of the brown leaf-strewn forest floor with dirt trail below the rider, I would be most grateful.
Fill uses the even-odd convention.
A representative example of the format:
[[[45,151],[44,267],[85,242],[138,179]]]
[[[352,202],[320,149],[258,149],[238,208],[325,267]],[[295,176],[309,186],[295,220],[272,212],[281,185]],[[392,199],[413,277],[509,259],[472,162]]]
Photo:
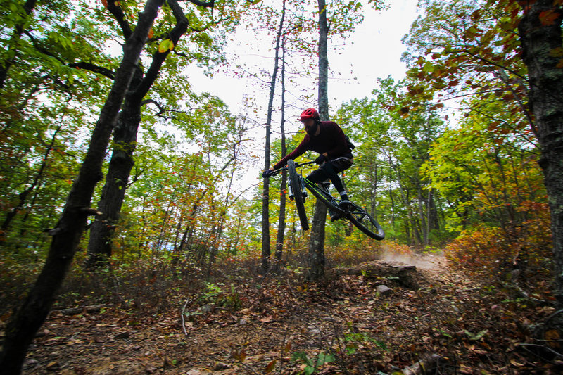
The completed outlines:
[[[217,279],[204,293],[182,297],[181,307],[165,313],[123,306],[75,314],[53,311],[27,353],[23,373],[563,370],[545,351],[534,351],[539,345],[531,338],[530,327],[545,321],[554,312],[551,307],[452,271],[441,257],[331,269],[316,284],[289,271],[228,282]],[[380,285],[391,291],[378,291]]]

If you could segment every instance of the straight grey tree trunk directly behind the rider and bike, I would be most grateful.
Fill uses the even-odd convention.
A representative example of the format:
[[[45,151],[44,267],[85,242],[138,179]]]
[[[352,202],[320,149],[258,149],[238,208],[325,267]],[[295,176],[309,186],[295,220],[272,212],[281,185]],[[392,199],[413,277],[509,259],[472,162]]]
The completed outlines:
[[[327,6],[324,0],[319,4],[319,115],[321,120],[329,120],[329,58],[327,54]],[[309,277],[312,280],[324,276],[324,226],[327,221],[327,206],[317,199],[315,213],[311,222],[309,239]]]

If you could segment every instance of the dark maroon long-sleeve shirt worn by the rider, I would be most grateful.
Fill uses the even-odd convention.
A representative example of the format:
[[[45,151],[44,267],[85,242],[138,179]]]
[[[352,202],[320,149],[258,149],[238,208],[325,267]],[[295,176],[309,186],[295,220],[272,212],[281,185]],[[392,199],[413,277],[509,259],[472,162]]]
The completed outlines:
[[[295,150],[274,165],[274,170],[286,165],[287,160],[295,159],[309,150],[316,153],[327,153],[329,159],[339,158],[343,154],[352,152],[346,143],[346,135],[344,135],[344,132],[336,122],[321,121],[319,126],[321,132],[318,136],[306,134],[301,144]]]

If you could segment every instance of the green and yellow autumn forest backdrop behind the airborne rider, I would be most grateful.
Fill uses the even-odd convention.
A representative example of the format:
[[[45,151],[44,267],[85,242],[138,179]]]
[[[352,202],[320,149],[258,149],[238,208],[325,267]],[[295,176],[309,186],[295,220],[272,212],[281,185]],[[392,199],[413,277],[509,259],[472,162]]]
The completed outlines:
[[[560,27],[561,1],[550,4],[555,10],[540,21]],[[70,295],[84,303],[89,296],[72,291],[72,280],[100,273],[152,270],[156,277],[158,269],[170,277],[186,268],[210,275],[232,262],[263,266],[260,205],[266,197],[274,239],[285,196],[276,179],[270,193],[262,191],[257,168],[265,146],[257,134],[274,134],[272,160],[303,137],[296,122],[283,125],[317,104],[317,6],[8,1],[0,15],[2,320],[45,269],[70,269],[65,303]],[[329,48],[343,48],[368,8],[384,13],[386,5],[328,2]],[[548,193],[518,34],[523,8],[516,1],[432,0],[420,1],[419,13],[403,39],[405,76],[379,72],[370,94],[330,102],[330,120],[357,146],[348,190],[378,218],[386,239],[327,222],[327,266],[387,251],[444,252],[487,277],[517,269],[526,295],[553,299]],[[259,53],[271,56],[252,65],[227,53],[236,53],[241,32],[270,37],[271,48]],[[559,61],[562,51],[550,56]],[[372,46],[355,58],[385,59],[386,51]],[[239,78],[248,94],[238,113],[221,98],[231,89],[211,89],[213,78],[206,84],[214,94],[195,89],[194,65],[209,77],[220,71]],[[94,151],[101,172],[96,163],[84,167]],[[248,185],[249,175],[255,184]],[[310,217],[313,205],[308,200]],[[287,230],[281,242],[270,241],[279,248],[275,262],[306,274],[301,250],[309,234],[291,202],[280,220]],[[54,295],[47,311],[53,303]]]

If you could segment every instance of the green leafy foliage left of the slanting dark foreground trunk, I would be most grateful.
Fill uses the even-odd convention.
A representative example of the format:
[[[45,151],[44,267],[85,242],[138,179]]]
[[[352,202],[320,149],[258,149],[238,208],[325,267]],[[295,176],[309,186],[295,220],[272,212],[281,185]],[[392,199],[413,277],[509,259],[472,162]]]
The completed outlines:
[[[0,195],[2,210],[8,211],[0,233],[6,242],[0,242],[6,248],[13,248],[15,236],[21,243],[17,226],[24,231],[41,230],[32,228],[39,225],[37,221],[23,225],[23,220],[18,219],[30,217],[27,213],[32,200],[47,200],[42,194],[49,189],[46,186],[64,186],[60,182],[67,177],[53,166],[66,160],[70,167],[73,159],[80,158],[83,149],[75,146],[78,134],[89,132],[91,124],[86,118],[101,108],[100,93],[109,89],[103,79],[109,72],[98,64],[103,61],[117,67],[115,58],[99,50],[107,40],[106,34],[90,15],[89,10],[67,1],[11,1],[1,12],[0,23],[6,27],[3,30],[12,26],[16,30],[10,38],[0,41],[0,165],[4,166],[0,167]],[[55,129],[58,131],[51,147],[46,139],[53,136]],[[53,152],[46,153],[48,148]],[[69,188],[67,184],[53,200],[62,205]],[[37,194],[42,199],[32,198]],[[42,205],[37,208],[40,210]]]

